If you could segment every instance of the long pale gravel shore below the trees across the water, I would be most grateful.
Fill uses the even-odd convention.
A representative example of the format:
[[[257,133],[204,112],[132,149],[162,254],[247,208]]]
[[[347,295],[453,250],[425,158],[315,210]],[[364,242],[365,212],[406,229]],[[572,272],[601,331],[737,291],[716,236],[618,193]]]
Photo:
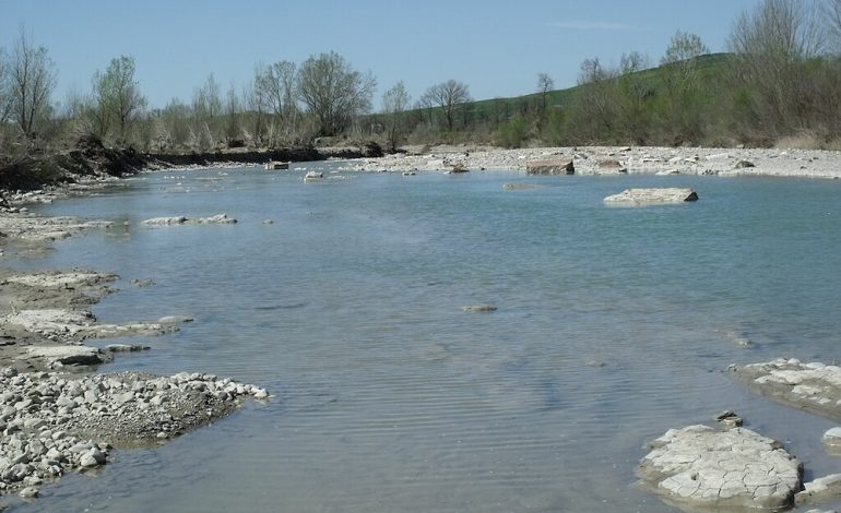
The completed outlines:
[[[351,160],[358,171],[431,171],[462,165],[469,170],[525,171],[534,160],[571,159],[577,175],[617,172],[649,175],[773,176],[841,178],[841,153],[806,150],[689,147],[542,147],[499,150],[486,146],[436,146],[422,152]]]

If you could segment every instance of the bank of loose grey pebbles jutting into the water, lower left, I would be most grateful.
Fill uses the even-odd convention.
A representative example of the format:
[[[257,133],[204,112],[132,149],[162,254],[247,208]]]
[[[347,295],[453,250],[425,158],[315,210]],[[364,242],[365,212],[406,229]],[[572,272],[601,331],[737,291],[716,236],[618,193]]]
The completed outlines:
[[[111,440],[154,443],[226,415],[259,386],[180,372],[68,377],[0,368],[0,494],[107,464]]]

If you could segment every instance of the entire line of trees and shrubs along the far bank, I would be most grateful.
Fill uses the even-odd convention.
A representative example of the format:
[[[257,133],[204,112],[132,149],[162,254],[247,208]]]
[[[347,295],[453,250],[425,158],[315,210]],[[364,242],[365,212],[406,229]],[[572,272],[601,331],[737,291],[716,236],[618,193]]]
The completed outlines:
[[[398,82],[371,114],[376,79],[330,51],[300,63],[258,64],[225,91],[210,73],[192,98],[152,107],[135,61],[118,56],[84,92],[54,98],[48,50],[21,29],[0,47],[0,152],[15,142],[72,144],[94,135],[151,152],[282,147],[335,141],[401,144],[474,142],[501,146],[575,144],[773,144],[784,138],[831,146],[841,139],[841,0],[763,0],[734,22],[727,53],[710,55],[678,31],[663,57],[631,51],[618,65],[581,63],[578,85],[474,102],[458,80],[413,102]]]

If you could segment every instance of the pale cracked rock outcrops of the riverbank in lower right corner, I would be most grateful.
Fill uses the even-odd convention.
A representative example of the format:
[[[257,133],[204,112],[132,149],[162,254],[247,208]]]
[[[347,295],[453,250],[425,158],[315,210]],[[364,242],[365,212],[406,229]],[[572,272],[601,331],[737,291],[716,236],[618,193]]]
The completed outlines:
[[[761,395],[841,420],[841,367],[779,358],[732,365],[729,371]],[[803,463],[783,443],[742,428],[732,411],[716,419],[714,428],[671,429],[650,442],[637,469],[641,485],[689,511],[781,511],[841,497],[841,474],[807,481]],[[838,454],[841,427],[828,430],[821,441],[829,454]]]

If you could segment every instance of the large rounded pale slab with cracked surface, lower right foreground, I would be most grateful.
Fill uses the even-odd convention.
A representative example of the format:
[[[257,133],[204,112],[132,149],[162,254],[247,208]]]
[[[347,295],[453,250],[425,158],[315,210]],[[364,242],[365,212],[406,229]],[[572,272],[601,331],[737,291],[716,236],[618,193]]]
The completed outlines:
[[[640,462],[643,485],[690,508],[780,509],[794,503],[803,465],[749,429],[671,429]]]

